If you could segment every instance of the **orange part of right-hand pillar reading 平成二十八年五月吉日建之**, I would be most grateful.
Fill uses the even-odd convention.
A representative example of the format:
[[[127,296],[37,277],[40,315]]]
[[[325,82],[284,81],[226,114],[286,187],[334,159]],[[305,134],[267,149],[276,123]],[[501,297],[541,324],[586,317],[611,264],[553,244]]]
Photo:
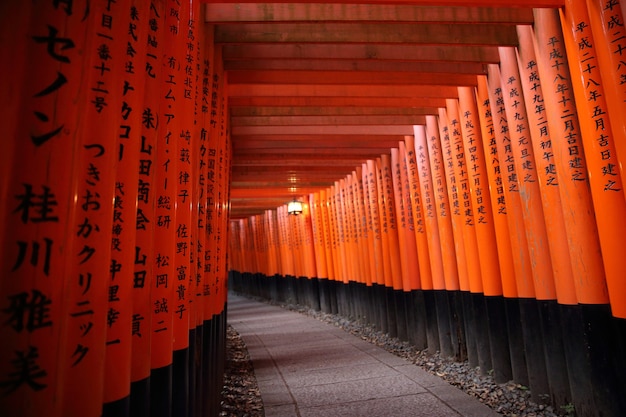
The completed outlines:
[[[614,9],[619,10],[617,7]],[[615,11],[609,14],[615,16]],[[589,184],[596,212],[611,310],[614,316],[626,318],[626,283],[623,279],[626,276],[626,263],[621,258],[620,246],[626,235],[626,200],[624,183],[622,176],[619,175],[621,163],[616,146],[617,143],[624,142],[624,135],[614,135],[615,131],[623,133],[623,129],[613,128],[613,120],[616,118],[609,117],[608,101],[605,99],[610,96],[605,91],[618,89],[615,88],[614,82],[607,83],[604,81],[606,77],[600,77],[602,64],[596,59],[596,51],[602,47],[596,48],[597,31],[591,33],[590,25],[587,23],[590,20],[586,7],[568,1],[566,9],[561,13],[561,21],[563,26],[569,29],[563,31],[566,50],[569,56],[578,55],[578,60],[570,59],[569,65],[573,77],[574,97],[578,103],[576,110],[585,148],[585,160],[590,173]],[[587,23],[587,26],[584,27],[581,22]],[[604,27],[606,38],[615,39],[617,28]],[[623,30],[620,32],[622,36],[626,33]],[[598,46],[604,46],[605,38],[598,40],[600,41]],[[596,85],[598,79],[603,81],[600,85]],[[608,88],[604,87],[605,84]],[[622,91],[626,93],[626,90]],[[621,117],[617,119],[618,124],[623,123]]]

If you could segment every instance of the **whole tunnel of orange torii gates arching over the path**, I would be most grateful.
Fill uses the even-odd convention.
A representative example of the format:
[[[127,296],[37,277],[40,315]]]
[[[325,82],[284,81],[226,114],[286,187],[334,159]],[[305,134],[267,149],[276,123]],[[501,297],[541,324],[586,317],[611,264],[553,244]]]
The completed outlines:
[[[626,415],[626,2],[1,3],[0,415],[217,416],[227,288]]]

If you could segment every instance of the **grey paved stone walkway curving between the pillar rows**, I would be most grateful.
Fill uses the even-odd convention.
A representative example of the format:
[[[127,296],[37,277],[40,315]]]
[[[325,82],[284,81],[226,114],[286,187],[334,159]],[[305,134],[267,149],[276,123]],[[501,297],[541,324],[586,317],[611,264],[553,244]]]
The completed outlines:
[[[420,367],[332,325],[230,294],[266,417],[496,417]]]

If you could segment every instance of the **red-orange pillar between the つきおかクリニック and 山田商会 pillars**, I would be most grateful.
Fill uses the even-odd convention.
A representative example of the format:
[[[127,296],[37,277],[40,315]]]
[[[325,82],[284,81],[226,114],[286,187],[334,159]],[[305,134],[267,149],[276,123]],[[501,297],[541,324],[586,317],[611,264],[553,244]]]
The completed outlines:
[[[129,30],[127,34],[128,44],[132,49],[144,45],[148,38],[148,22],[139,22],[138,15],[148,13],[148,7],[132,5],[128,8]],[[141,49],[141,48],[140,48]],[[147,56],[144,53],[129,53],[126,50],[126,63],[122,86],[122,105],[120,109],[120,132],[117,149],[117,170],[115,178],[115,200],[113,210],[113,228],[111,247],[111,268],[109,287],[108,314],[111,322],[107,323],[107,346],[105,357],[105,380],[104,380],[104,406],[103,415],[129,416],[131,411],[131,381],[133,368],[142,366],[144,377],[149,376],[149,345],[143,344],[143,358],[137,359],[133,364],[133,350],[139,347],[135,345],[136,339],[141,335],[141,320],[135,320],[134,301],[136,295],[144,292],[140,289],[135,294],[134,276],[135,263],[137,262],[137,236],[139,230],[136,227],[139,189],[139,171],[137,161],[140,158],[142,145],[142,108],[144,105],[144,91],[146,84],[151,80],[144,77],[143,69],[146,67]],[[135,70],[137,68],[138,70]],[[141,69],[141,70],[139,70]],[[154,131],[154,129],[153,129]],[[151,138],[151,140],[154,138]],[[145,177],[145,175],[144,175]],[[146,195],[142,194],[145,200]],[[144,223],[141,223],[145,226]],[[145,227],[144,229],[145,230]],[[142,242],[143,244],[143,242]],[[144,255],[145,256],[145,255]],[[146,262],[144,261],[144,265]],[[145,296],[144,294],[142,294]],[[137,300],[142,303],[141,317],[149,317],[149,302],[145,298]],[[145,319],[144,319],[145,320]],[[131,332],[128,332],[131,329]],[[150,340],[148,332],[146,339]],[[148,365],[147,367],[144,367]],[[147,372],[145,372],[147,371]],[[141,402],[145,404],[145,402]]]

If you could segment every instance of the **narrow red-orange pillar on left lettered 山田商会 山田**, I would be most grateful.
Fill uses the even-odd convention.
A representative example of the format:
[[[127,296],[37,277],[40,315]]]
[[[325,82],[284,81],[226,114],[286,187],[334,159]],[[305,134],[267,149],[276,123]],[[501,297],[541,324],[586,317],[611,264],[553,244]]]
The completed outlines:
[[[143,67],[134,65],[132,68],[145,81],[143,104],[136,108],[141,119],[141,144],[136,161],[137,180],[137,214],[135,221],[135,248],[133,270],[133,316],[132,316],[132,368],[131,368],[131,415],[144,415],[150,409],[150,371],[152,343],[152,311],[151,299],[152,277],[154,276],[154,233],[156,228],[155,206],[157,190],[155,183],[156,157],[158,148],[158,126],[161,102],[162,65],[164,42],[147,42],[147,39],[161,39],[165,25],[165,8],[162,4],[139,8],[140,15],[146,20],[138,22],[137,29],[148,27],[145,35],[145,63]],[[142,13],[143,12],[143,13]],[[160,20],[159,20],[160,19]],[[157,25],[150,25],[156,21]],[[141,33],[141,32],[140,32]],[[139,42],[138,38],[137,42]],[[135,45],[134,39],[131,46]],[[135,59],[139,57],[136,55]],[[137,89],[139,86],[134,86]],[[129,93],[137,91],[129,90]]]

